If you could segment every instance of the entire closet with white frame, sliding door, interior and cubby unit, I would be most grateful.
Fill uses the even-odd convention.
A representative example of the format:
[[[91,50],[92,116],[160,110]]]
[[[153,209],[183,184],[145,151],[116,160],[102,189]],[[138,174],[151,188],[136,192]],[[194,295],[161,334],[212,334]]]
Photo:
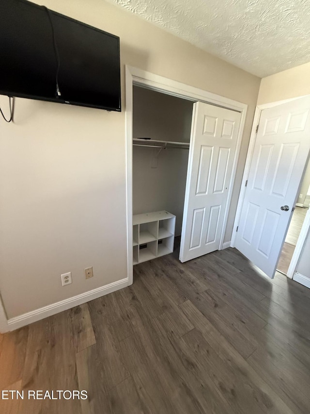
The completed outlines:
[[[247,105],[132,66],[125,81],[130,285],[133,265],[172,252],[180,234],[181,262],[230,246]]]

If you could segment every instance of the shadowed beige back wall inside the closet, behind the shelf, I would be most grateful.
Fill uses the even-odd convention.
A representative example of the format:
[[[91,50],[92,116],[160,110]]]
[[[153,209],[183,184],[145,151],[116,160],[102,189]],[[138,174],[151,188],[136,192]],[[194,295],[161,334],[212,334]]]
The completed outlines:
[[[134,87],[133,136],[189,142],[193,102]],[[188,149],[133,148],[134,214],[166,210],[176,215],[175,235],[181,234]]]

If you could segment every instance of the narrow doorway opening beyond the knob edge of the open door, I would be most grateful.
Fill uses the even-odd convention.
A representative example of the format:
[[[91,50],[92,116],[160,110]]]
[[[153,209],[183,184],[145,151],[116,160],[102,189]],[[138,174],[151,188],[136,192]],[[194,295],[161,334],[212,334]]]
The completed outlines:
[[[288,275],[294,251],[298,242],[298,238],[304,224],[306,214],[310,204],[310,161],[306,168],[304,177],[302,179],[299,197],[297,199],[295,210],[289,225],[288,232],[285,237],[285,242],[279,258],[277,270],[284,275]]]

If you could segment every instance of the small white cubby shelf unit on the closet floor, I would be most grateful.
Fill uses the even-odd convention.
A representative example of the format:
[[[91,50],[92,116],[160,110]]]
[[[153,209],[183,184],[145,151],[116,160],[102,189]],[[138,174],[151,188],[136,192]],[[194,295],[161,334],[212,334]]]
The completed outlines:
[[[173,252],[175,215],[167,211],[133,216],[133,264]]]

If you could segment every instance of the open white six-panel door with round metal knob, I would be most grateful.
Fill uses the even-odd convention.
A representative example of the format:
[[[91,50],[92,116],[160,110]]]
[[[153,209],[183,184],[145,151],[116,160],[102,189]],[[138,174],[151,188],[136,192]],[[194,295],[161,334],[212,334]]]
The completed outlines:
[[[309,149],[310,97],[261,112],[235,247],[271,278]]]

